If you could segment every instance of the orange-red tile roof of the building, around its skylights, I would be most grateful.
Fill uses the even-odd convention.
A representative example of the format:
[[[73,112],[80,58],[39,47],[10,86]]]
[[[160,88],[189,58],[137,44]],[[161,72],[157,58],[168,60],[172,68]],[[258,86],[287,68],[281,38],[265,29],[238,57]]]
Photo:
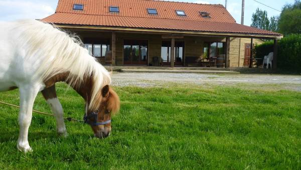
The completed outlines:
[[[74,10],[74,4],[83,4],[83,10]],[[109,12],[109,6],[118,6],[119,12]],[[147,8],[156,8],[158,14],[148,14]],[[184,10],[187,16],[178,16],[175,10]],[[200,11],[210,13],[210,18],[200,16]],[[57,24],[281,35],[236,23],[221,4],[161,0],[59,0],[56,13],[42,20]]]

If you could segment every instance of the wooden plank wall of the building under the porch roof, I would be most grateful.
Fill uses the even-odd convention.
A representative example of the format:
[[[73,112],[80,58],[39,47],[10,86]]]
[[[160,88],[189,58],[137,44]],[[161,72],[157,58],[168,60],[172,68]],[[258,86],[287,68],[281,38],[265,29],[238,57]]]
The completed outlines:
[[[183,42],[184,44],[184,52],[183,52],[183,61],[182,65],[176,66],[208,66],[201,64],[193,64],[190,63],[189,58],[193,57],[196,60],[202,60],[204,58],[204,44],[211,42],[222,42],[225,50],[225,55],[227,57],[229,63],[226,63],[226,67],[242,67],[244,62],[244,50],[245,44],[250,43],[250,38],[239,38],[229,37],[229,43],[227,46],[227,37],[210,37],[210,36],[194,36],[194,35],[165,35],[165,34],[151,34],[151,33],[129,33],[129,32],[108,32],[108,31],[86,31],[86,30],[78,30],[78,29],[70,29],[73,32],[76,32],[80,38],[83,40],[83,43],[88,43],[90,39],[95,39],[95,41],[109,41],[110,49],[112,51],[112,65],[130,65],[125,64],[124,62],[124,41],[125,40],[145,40],[147,41],[147,61],[145,64],[153,66],[153,58],[158,57],[161,58],[161,50],[163,41],[172,41],[175,42]],[[173,38],[174,37],[174,38]],[[253,43],[260,44],[263,40],[261,39],[253,39]],[[228,49],[228,52],[227,52]],[[226,58],[225,58],[226,59]],[[99,58],[99,61],[104,63],[104,58]],[[227,59],[226,61],[227,62]],[[139,65],[139,64],[133,64]],[[160,66],[160,65],[156,65]],[[162,65],[161,65],[162,66]],[[167,66],[167,65],[165,65]],[[170,66],[173,66],[172,64]],[[210,65],[209,65],[210,66]],[[211,65],[214,66],[214,65]]]

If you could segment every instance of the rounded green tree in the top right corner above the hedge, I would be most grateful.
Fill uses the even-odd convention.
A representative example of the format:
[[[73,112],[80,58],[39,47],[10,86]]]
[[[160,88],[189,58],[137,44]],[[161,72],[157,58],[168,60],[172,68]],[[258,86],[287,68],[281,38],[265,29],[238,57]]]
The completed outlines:
[[[295,0],[293,4],[286,4],[279,17],[279,32],[287,35],[301,33],[301,1]]]

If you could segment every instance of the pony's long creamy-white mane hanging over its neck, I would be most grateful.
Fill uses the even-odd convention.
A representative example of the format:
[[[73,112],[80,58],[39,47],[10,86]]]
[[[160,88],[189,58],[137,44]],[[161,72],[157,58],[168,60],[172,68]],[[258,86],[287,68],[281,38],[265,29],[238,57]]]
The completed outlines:
[[[93,85],[89,109],[98,108],[101,89],[111,83],[111,78],[109,72],[89,55],[78,36],[38,20],[20,20],[14,29],[19,32],[17,38],[23,39],[20,45],[27,49],[28,59],[42,59],[33,78],[42,77],[46,81],[56,74],[69,72],[67,81],[76,88],[90,77]]]

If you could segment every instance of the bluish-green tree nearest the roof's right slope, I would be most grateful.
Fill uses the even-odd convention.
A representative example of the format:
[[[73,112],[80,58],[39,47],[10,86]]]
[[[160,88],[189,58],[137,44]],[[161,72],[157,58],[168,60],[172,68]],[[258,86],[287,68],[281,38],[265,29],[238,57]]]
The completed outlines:
[[[270,21],[267,17],[267,11],[257,8],[256,12],[252,14],[251,26],[269,30],[269,24]]]

